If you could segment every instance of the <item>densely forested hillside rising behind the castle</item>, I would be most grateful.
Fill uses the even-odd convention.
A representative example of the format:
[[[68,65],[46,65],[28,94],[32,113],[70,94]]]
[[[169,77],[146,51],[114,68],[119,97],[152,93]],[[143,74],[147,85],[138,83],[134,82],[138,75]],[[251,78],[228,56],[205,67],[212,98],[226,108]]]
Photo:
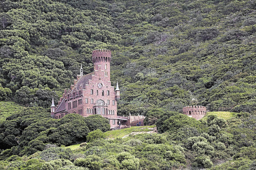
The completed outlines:
[[[253,0],[4,0],[1,100],[48,107],[91,51],[112,51],[119,114],[181,111],[197,98],[212,111],[254,111]]]

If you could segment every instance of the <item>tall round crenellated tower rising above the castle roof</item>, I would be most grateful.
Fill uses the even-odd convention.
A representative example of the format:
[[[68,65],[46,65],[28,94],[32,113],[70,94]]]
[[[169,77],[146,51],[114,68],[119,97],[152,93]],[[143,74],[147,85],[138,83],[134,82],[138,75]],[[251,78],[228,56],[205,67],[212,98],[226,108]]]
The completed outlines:
[[[110,60],[111,51],[107,49],[96,49],[92,51],[92,62],[94,74],[107,77],[110,81]]]

